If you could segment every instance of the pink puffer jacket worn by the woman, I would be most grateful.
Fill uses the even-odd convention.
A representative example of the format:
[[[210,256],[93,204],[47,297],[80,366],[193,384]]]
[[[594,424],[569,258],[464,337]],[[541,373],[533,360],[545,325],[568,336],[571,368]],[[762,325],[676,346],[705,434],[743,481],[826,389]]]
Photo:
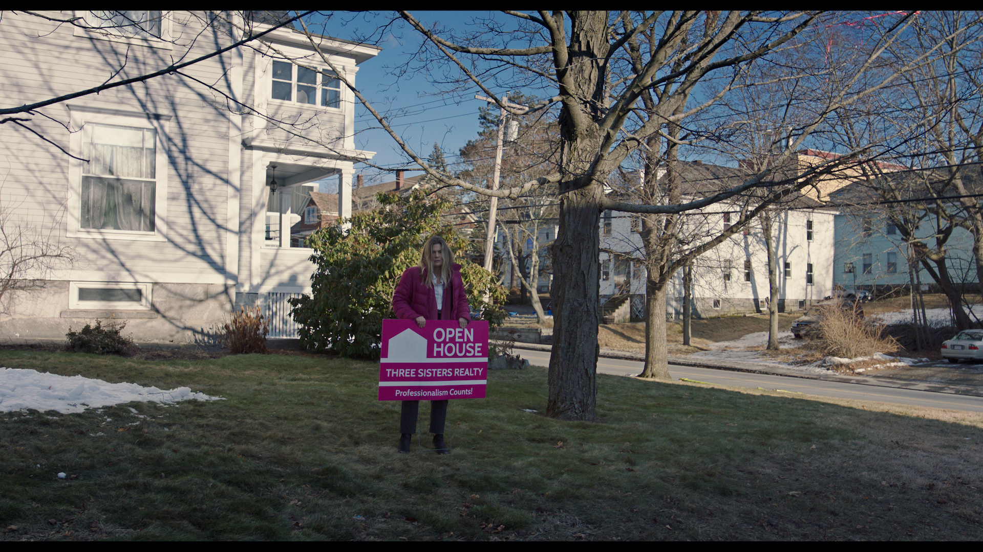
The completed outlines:
[[[456,262],[450,265],[450,285],[443,287],[443,306],[441,318],[457,320],[471,319],[468,308],[468,296],[464,292],[464,281],[461,279],[461,265]],[[436,320],[436,296],[434,288],[428,288],[421,278],[422,268],[412,266],[407,268],[399,278],[399,284],[392,293],[392,311],[397,318],[413,320],[423,316],[428,320]]]

